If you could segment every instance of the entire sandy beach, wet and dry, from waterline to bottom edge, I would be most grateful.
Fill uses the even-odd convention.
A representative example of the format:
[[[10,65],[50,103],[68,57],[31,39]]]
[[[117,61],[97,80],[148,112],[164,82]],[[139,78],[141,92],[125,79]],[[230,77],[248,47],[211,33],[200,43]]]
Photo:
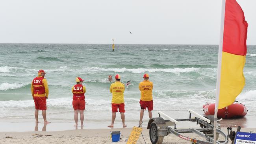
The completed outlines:
[[[157,117],[154,113],[154,117]],[[178,114],[176,115],[178,116]],[[174,117],[176,117],[174,116]],[[180,116],[181,117],[181,116]],[[182,116],[186,118],[187,116]],[[122,128],[121,118],[117,118],[114,128],[107,127],[110,121],[85,121],[85,126],[74,127],[73,121],[67,120],[50,120],[50,124],[36,124],[34,119],[16,119],[1,118],[0,119],[0,144],[110,144],[111,131],[121,131],[120,142],[117,144],[126,144],[133,126],[137,126],[137,121],[126,121],[128,127]],[[149,138],[149,130],[147,129],[148,118],[143,123],[143,136],[147,144],[151,144]],[[39,119],[39,122],[42,122]],[[237,126],[241,126],[241,131],[256,131],[255,119],[250,116],[244,118],[221,120],[221,127],[224,133],[227,133],[226,127],[232,127],[232,131],[236,131]],[[185,127],[185,128],[182,128]],[[179,122],[179,129],[199,128],[195,122]],[[184,134],[191,138],[202,139],[193,133]],[[224,139],[220,137],[220,139]],[[139,137],[137,144],[144,144],[142,136]],[[231,142],[229,142],[230,144]],[[190,142],[169,134],[164,138],[163,144],[190,144]]]

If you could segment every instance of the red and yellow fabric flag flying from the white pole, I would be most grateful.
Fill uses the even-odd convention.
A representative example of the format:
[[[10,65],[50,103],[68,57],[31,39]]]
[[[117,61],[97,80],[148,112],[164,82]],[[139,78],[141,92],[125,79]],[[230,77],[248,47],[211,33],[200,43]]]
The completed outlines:
[[[243,10],[236,0],[226,0],[218,109],[231,105],[245,85],[247,27]]]

